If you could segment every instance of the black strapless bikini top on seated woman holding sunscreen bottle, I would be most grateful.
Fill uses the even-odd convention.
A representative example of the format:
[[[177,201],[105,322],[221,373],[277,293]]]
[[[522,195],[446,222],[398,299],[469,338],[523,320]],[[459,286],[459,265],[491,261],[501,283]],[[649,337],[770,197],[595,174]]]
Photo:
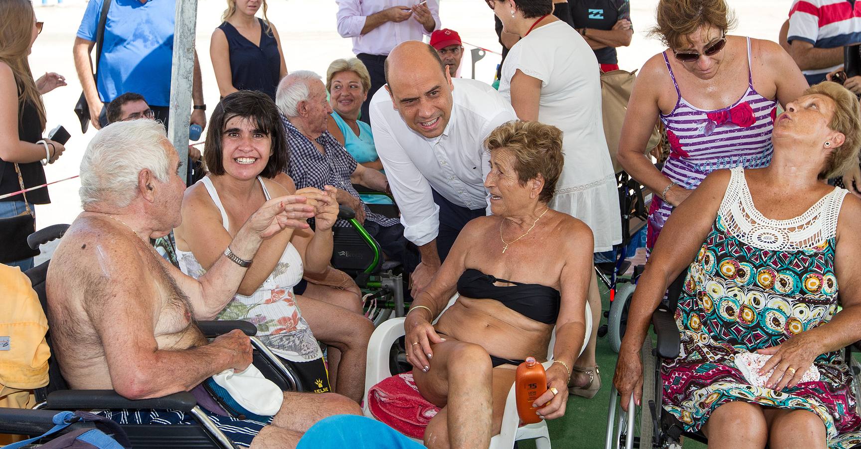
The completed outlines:
[[[500,287],[493,284],[497,281],[514,285]],[[470,268],[457,280],[457,292],[470,298],[495,299],[527,318],[546,324],[554,324],[559,317],[561,295],[547,285],[506,281]]]

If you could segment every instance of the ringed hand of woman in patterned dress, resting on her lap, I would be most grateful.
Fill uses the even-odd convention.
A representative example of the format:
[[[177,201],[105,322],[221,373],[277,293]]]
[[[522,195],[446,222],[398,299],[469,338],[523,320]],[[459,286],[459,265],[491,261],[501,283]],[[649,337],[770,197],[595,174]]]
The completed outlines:
[[[757,350],[759,354],[771,355],[771,359],[762,365],[759,375],[764,376],[774,369],[765,383],[765,388],[780,391],[798,384],[804,372],[810,369],[810,365],[813,365],[813,361],[821,354],[816,345],[808,340],[802,333],[780,345]]]

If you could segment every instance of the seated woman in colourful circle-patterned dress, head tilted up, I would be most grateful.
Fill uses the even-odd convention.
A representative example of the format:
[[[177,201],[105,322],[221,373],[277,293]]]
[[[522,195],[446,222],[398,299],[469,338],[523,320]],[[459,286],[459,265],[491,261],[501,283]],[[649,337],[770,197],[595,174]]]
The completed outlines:
[[[858,99],[838,84],[809,88],[777,117],[770,166],[714,171],[673,212],[619,352],[625,408],[631,394],[641,403],[652,312],[686,269],[678,359],[661,368],[663,407],[685,430],[734,449],[861,442],[841,351],[861,340],[861,201],[822,181],[857,163],[859,116]],[[744,363],[765,356],[760,370]]]

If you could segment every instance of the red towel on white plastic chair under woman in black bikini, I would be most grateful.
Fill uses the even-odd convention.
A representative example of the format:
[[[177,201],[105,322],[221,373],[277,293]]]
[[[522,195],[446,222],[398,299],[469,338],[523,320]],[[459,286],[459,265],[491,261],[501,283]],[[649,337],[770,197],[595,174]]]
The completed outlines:
[[[418,392],[412,371],[389,377],[371,387],[368,408],[377,421],[418,440],[424,438],[424,428],[440,410]]]

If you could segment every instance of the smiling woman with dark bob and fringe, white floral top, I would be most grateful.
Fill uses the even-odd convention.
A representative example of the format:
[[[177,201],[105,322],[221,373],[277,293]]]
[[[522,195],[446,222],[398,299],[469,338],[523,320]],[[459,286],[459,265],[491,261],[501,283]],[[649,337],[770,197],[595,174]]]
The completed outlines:
[[[331,345],[330,351],[339,349],[340,360],[329,364],[330,371],[343,375],[344,385],[337,391],[358,401],[373,325],[353,311],[294,293],[305,272],[329,269],[331,226],[338,218],[334,188],[296,190],[288,177],[287,186],[274,180],[288,164],[287,139],[278,108],[262,92],[240,90],[221,100],[206,141],[203,157],[209,173],[185,191],[183,224],[174,230],[180,269],[200,277],[266,200],[303,196],[316,208],[315,230],[285,228],[263,241],[219,319],[254,323],[257,337],[299,371],[303,385],[316,384],[320,393],[330,388],[317,340]],[[315,321],[321,322],[319,327]]]

